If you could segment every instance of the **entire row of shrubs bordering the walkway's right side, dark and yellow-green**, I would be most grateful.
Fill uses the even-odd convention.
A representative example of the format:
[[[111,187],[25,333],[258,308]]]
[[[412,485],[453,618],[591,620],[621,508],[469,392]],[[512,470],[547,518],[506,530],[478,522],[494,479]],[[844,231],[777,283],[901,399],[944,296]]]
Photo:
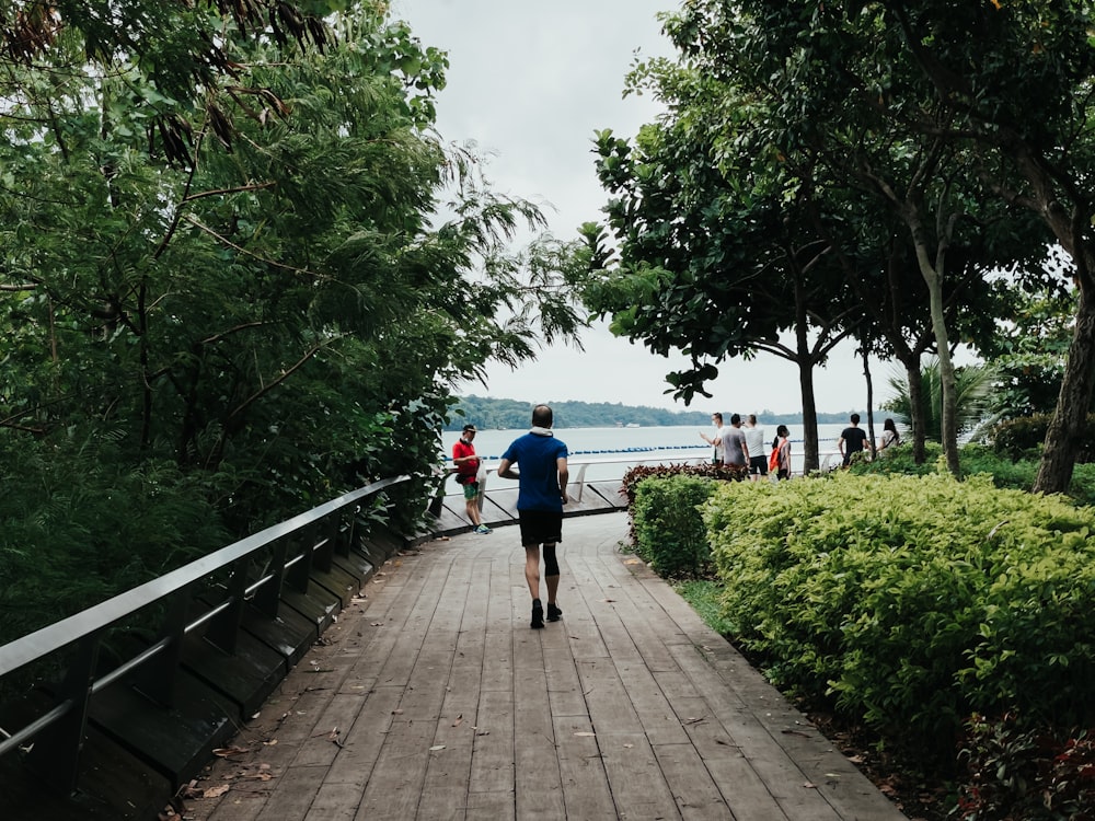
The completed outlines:
[[[1095,818],[1095,511],[983,475],[652,478],[636,552],[713,578],[728,638],[845,742],[914,760],[927,816]]]

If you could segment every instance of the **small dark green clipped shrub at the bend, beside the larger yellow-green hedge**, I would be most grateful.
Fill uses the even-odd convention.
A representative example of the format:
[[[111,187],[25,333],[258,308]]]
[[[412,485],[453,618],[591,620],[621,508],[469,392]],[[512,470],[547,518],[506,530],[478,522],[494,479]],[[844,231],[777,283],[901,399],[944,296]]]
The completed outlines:
[[[649,477],[638,483],[632,516],[635,553],[661,576],[698,576],[711,564],[707,532],[699,506],[714,479],[702,476]]]

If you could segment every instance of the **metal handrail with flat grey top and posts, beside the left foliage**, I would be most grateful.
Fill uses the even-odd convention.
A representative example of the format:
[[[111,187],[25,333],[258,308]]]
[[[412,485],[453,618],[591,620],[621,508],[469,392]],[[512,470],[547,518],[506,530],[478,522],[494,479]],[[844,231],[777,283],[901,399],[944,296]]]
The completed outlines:
[[[14,732],[0,730],[0,736],[4,737],[0,741],[0,755],[9,753],[34,740],[32,755],[41,760],[42,764],[44,764],[44,766],[39,765],[37,768],[57,776],[57,780],[67,782],[68,788],[73,789],[79,774],[79,750],[82,745],[84,726],[88,719],[90,701],[93,695],[152,659],[164,656],[164,651],[168,649],[174,650],[175,654],[174,656],[166,654],[170,657],[168,661],[177,664],[177,651],[183,637],[187,633],[222,614],[224,611],[239,608],[242,602],[237,601],[237,599],[250,599],[254,595],[258,587],[274,581],[281,582],[287,568],[299,564],[301,560],[306,562],[306,568],[310,566],[310,559],[315,551],[324,546],[327,548],[332,547],[331,536],[328,534],[318,534],[316,539],[300,545],[295,555],[286,557],[280,571],[264,574],[262,579],[250,587],[244,588],[241,585],[239,591],[230,592],[227,600],[210,608],[207,612],[188,623],[166,625],[159,639],[150,647],[125,660],[113,670],[96,677],[95,661],[97,659],[99,643],[101,637],[111,627],[152,604],[166,600],[177,601],[176,597],[185,594],[197,582],[209,578],[220,570],[233,568],[238,573],[242,573],[241,563],[257,551],[285,543],[287,540],[293,539],[301,533],[309,532],[309,529],[319,529],[322,525],[332,524],[337,528],[341,523],[339,517],[344,512],[349,511],[356,514],[359,510],[359,507],[357,507],[359,501],[392,485],[406,482],[410,478],[406,475],[393,476],[373,482],[357,490],[351,490],[312,510],[274,524],[245,539],[241,539],[227,547],[220,548],[216,553],[204,556],[164,576],[152,579],[88,610],[21,638],[16,638],[14,641],[0,647],[0,678],[69,647],[78,646],[80,648],[79,658],[68,669],[65,682],[61,683],[56,695],[57,704]],[[348,553],[349,539],[351,537],[353,522],[349,527],[346,543],[343,545],[345,548],[344,552]],[[232,639],[229,639],[229,644],[231,643]],[[168,674],[159,678],[161,681],[170,682],[175,677]],[[170,687],[170,684],[168,686]],[[165,696],[164,701],[170,703],[170,691],[166,693],[161,692],[159,695],[162,697]],[[41,737],[47,730],[50,731],[49,735],[51,738],[43,742]],[[28,760],[32,755],[28,755]]]

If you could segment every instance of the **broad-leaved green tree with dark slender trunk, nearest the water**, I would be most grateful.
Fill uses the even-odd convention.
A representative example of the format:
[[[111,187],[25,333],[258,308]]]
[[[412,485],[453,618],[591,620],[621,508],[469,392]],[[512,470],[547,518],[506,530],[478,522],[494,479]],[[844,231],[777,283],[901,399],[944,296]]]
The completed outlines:
[[[814,369],[860,311],[839,297],[839,269],[793,173],[781,173],[772,147],[758,142],[751,101],[704,69],[639,65],[632,88],[658,95],[667,115],[633,146],[598,135],[619,258],[603,251],[604,229],[585,227],[598,274],[585,301],[612,315],[614,333],[661,355],[689,354],[692,368],[667,377],[685,402],[710,395],[704,384],[725,358],[764,351],[796,362],[806,463],[816,466]]]

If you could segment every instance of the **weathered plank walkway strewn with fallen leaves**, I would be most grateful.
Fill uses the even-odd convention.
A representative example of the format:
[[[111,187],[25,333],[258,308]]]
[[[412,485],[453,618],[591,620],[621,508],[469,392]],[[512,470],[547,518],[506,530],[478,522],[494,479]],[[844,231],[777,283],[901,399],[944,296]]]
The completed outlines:
[[[194,821],[897,821],[889,800],[634,556],[567,519],[529,628],[517,529],[401,554],[241,729]]]

